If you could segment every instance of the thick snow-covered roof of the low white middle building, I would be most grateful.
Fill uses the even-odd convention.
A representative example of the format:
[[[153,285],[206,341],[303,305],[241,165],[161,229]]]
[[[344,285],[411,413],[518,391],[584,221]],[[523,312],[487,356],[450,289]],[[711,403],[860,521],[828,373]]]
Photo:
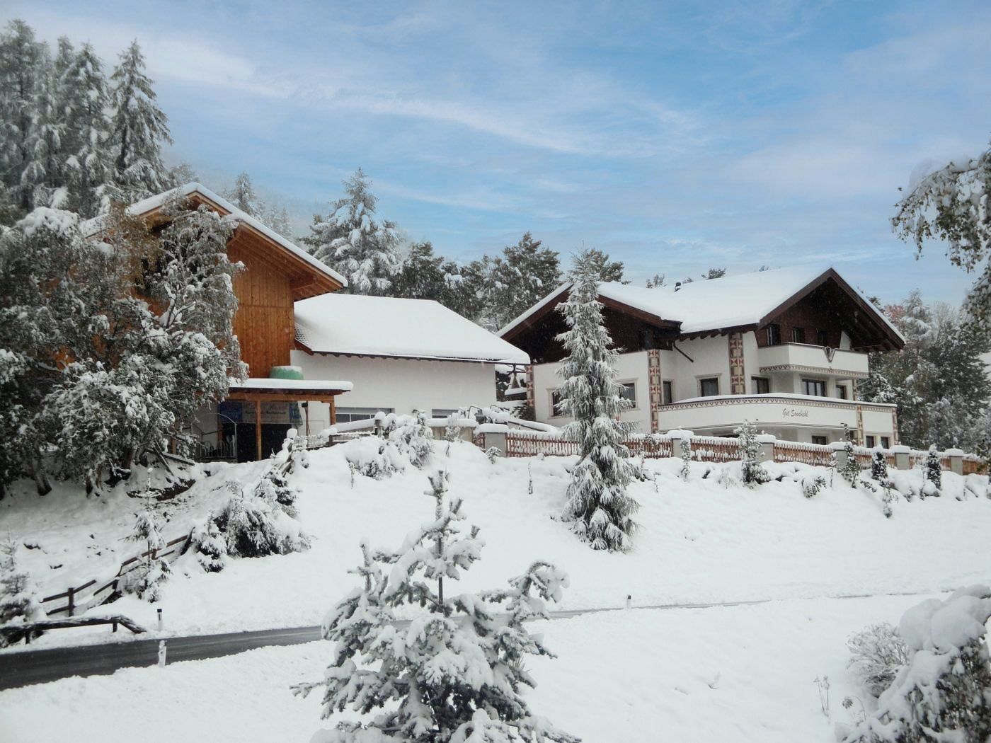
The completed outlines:
[[[295,304],[296,338],[319,354],[529,364],[471,320],[427,299],[322,294]]]

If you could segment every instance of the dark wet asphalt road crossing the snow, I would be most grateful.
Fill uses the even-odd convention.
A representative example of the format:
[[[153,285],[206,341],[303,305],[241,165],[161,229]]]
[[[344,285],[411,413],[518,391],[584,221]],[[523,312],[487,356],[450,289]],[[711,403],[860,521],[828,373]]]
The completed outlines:
[[[911,595],[888,593],[887,595]],[[838,595],[832,598],[862,598],[864,595]],[[665,603],[636,606],[637,609],[688,609],[714,606],[740,606],[766,603],[770,599],[752,601],[716,601],[709,603]],[[600,611],[616,611],[617,607],[552,611],[552,619],[567,619],[581,614]],[[55,630],[71,632],[70,629]],[[218,635],[191,635],[165,638],[167,663],[199,661],[235,655],[246,650],[269,645],[296,645],[320,639],[319,627],[290,627],[287,629],[263,629],[252,632],[228,632]],[[159,662],[159,639],[131,640],[129,642],[78,645],[45,650],[7,651],[0,653],[0,690],[45,684],[69,676],[97,676],[112,674],[117,669],[131,666],[154,666]]]

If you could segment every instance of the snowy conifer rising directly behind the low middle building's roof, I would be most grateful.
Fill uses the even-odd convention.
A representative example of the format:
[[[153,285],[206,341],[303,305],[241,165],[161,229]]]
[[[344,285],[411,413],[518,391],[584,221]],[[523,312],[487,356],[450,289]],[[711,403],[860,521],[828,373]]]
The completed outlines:
[[[348,278],[353,294],[385,294],[400,267],[395,223],[376,220],[372,181],[359,167],[344,181],[346,195],[331,203],[330,213],[313,215],[304,243],[315,258]]]

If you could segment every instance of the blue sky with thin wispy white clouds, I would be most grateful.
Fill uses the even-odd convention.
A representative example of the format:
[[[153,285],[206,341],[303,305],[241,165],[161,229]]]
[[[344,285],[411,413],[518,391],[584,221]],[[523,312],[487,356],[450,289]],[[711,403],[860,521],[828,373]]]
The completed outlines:
[[[991,138],[987,2],[5,3],[105,59],[140,40],[208,185],[300,220],[361,165],[461,260],[526,230],[642,281],[831,263],[885,300],[970,283],[888,219]],[[302,224],[302,222],[300,222]]]

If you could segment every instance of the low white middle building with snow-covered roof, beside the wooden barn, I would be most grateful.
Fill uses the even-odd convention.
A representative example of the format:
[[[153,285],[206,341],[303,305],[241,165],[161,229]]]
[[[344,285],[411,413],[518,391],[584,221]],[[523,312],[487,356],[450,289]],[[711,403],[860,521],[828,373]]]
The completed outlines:
[[[423,410],[439,418],[495,402],[496,365],[529,357],[442,304],[424,299],[322,294],[295,304],[292,364],[306,378],[354,379],[336,409],[340,422],[379,410]],[[309,405],[309,422],[330,422],[327,405]]]

